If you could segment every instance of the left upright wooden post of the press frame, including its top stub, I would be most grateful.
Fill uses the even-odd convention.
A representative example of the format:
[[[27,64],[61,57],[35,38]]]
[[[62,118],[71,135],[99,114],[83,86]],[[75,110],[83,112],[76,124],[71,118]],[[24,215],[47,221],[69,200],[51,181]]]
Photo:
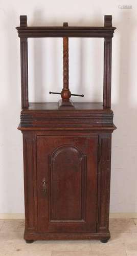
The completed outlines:
[[[20,16],[20,27],[27,27],[27,16]],[[21,108],[29,106],[28,100],[28,38],[20,37],[20,67],[21,67]]]

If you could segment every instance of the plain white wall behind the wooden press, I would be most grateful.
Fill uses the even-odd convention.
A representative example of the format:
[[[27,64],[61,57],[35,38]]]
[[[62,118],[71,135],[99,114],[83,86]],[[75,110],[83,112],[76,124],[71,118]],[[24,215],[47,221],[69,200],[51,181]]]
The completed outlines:
[[[112,136],[111,212],[137,212],[137,2],[120,9],[125,1],[4,1],[0,5],[0,213],[24,212],[22,136],[20,115],[20,52],[16,26],[19,15],[28,15],[30,26],[102,26],[112,14],[117,27],[112,40],[112,109],[118,129]],[[70,87],[84,93],[84,101],[102,100],[102,39],[70,39]],[[50,90],[62,88],[62,42],[29,40],[30,100],[57,101]],[[35,62],[34,62],[35,60]],[[76,98],[74,99],[76,101]],[[83,100],[83,99],[77,99]]]

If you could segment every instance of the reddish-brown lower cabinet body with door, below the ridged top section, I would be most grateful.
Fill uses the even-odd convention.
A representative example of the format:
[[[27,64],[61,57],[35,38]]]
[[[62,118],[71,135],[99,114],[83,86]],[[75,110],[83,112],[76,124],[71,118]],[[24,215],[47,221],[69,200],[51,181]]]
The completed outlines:
[[[111,133],[26,129],[25,239],[106,241]]]

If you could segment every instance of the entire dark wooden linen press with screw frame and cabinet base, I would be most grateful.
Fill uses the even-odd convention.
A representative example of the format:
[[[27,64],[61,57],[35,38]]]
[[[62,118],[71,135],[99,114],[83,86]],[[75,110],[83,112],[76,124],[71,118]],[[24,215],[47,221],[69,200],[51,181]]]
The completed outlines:
[[[112,16],[104,27],[28,27],[20,16],[21,116],[26,242],[99,239],[109,232]],[[63,89],[56,103],[28,101],[28,37],[63,38]],[[104,38],[103,102],[74,103],[69,89],[69,37]],[[92,85],[91,85],[92,86]],[[80,92],[82,93],[82,92]]]

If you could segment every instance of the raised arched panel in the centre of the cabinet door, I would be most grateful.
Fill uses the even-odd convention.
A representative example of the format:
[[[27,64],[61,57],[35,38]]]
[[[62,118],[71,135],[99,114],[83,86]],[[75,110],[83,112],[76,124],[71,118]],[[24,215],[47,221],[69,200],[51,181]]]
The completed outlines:
[[[63,145],[56,148],[49,159],[50,220],[83,220],[86,156],[76,146]]]

